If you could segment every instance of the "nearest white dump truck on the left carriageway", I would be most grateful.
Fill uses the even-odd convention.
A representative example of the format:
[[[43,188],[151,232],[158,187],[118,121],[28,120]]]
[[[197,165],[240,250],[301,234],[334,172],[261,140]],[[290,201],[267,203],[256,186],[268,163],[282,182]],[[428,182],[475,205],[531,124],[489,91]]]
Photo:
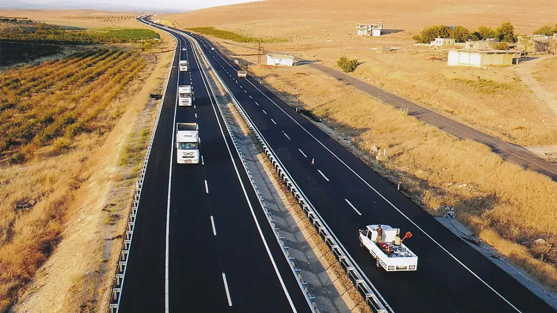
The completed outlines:
[[[176,123],[176,160],[178,164],[199,163],[197,123]]]

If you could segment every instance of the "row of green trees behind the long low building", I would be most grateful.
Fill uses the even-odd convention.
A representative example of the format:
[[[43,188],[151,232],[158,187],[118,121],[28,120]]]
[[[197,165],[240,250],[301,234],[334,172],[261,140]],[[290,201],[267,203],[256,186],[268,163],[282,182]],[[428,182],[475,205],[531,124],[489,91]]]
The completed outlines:
[[[430,43],[435,38],[454,38],[455,42],[466,42],[469,40],[486,40],[495,39],[501,42],[516,42],[517,35],[515,27],[511,22],[504,22],[497,29],[487,26],[478,27],[477,31],[470,31],[466,27],[456,26],[449,27],[447,25],[434,25],[424,28],[421,32],[415,34],[414,41],[419,43]]]

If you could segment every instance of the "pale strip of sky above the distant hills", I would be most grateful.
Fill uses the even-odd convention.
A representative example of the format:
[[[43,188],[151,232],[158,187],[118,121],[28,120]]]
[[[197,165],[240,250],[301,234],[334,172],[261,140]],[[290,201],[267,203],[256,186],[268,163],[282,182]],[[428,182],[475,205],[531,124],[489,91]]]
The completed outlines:
[[[0,8],[94,8],[192,10],[257,0],[0,0]]]

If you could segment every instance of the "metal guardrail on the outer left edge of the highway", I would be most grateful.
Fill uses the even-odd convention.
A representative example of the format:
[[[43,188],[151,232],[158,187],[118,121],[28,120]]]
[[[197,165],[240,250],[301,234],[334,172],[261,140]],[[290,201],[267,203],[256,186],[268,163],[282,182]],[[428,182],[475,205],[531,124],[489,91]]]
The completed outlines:
[[[155,133],[157,132],[157,126],[159,125],[160,112],[162,111],[164,105],[164,97],[167,93],[168,81],[170,80],[170,74],[172,73],[174,59],[176,58],[177,51],[178,51],[178,41],[176,43],[176,47],[174,51],[174,58],[172,63],[170,63],[170,69],[168,71],[167,86],[164,87],[163,97],[158,108],[157,117],[155,118],[155,123],[153,125],[151,136],[149,137],[149,142],[147,144],[147,150],[145,152],[143,165],[141,165],[141,172],[139,173],[138,180],[135,182],[134,200],[131,202],[131,212],[128,217],[128,225],[126,225],[126,231],[124,232],[124,242],[122,244],[122,249],[120,251],[118,266],[116,267],[116,274],[114,277],[114,283],[110,295],[110,302],[109,302],[110,313],[118,313],[118,309],[120,306],[120,295],[122,291],[122,286],[124,284],[124,277],[126,275],[126,267],[128,265],[128,255],[130,252],[131,240],[134,235],[135,217],[137,216],[138,213],[139,200],[141,197],[143,181],[145,179],[145,172],[147,170],[147,165],[149,163],[149,155],[151,154],[151,148],[153,147]]]

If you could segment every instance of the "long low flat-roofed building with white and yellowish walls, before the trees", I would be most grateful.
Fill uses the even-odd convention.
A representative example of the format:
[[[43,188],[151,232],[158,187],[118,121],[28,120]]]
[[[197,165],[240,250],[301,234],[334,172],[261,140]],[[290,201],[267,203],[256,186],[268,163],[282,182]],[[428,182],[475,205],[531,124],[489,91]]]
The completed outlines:
[[[517,64],[520,52],[507,50],[457,50],[452,49],[448,53],[447,65],[461,66],[508,66]]]

